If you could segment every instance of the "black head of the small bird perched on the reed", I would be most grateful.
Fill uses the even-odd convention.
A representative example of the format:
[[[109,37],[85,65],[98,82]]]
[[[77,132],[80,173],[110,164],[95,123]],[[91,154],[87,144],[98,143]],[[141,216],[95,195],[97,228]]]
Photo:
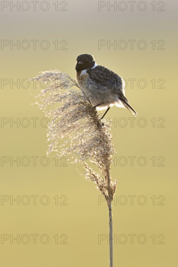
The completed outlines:
[[[92,68],[95,65],[95,61],[92,55],[89,54],[81,54],[76,58],[77,64],[75,66],[76,72],[88,68]]]

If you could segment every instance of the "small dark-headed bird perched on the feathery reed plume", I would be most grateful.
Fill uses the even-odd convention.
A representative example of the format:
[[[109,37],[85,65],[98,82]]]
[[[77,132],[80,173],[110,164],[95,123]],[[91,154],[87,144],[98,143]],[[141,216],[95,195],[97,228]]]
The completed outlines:
[[[111,106],[116,105],[127,108],[134,116],[138,115],[125,97],[123,78],[107,67],[98,66],[90,54],[81,54],[76,60],[77,83],[94,108],[107,108],[108,111]]]

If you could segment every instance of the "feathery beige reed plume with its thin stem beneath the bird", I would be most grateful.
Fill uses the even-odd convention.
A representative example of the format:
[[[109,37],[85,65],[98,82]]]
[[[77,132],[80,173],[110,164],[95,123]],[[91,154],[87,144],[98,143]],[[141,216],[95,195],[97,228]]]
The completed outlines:
[[[50,119],[47,154],[54,151],[57,156],[65,155],[71,162],[82,163],[84,176],[105,196],[109,209],[110,267],[113,267],[111,202],[117,181],[110,177],[114,149],[109,124],[101,121],[79,85],[67,73],[44,71],[32,80],[47,84],[36,97],[36,104]],[[89,161],[99,172],[92,169]]]

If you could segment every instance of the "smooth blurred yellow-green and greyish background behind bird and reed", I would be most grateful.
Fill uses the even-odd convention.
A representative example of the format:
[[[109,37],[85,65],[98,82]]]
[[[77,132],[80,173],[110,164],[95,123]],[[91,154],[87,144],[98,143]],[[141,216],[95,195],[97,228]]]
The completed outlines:
[[[108,209],[80,165],[47,158],[29,79],[76,57],[125,79],[139,116],[113,107],[114,266],[176,266],[177,2],[1,1],[0,250],[3,267],[109,266]],[[45,85],[41,84],[41,88]]]

